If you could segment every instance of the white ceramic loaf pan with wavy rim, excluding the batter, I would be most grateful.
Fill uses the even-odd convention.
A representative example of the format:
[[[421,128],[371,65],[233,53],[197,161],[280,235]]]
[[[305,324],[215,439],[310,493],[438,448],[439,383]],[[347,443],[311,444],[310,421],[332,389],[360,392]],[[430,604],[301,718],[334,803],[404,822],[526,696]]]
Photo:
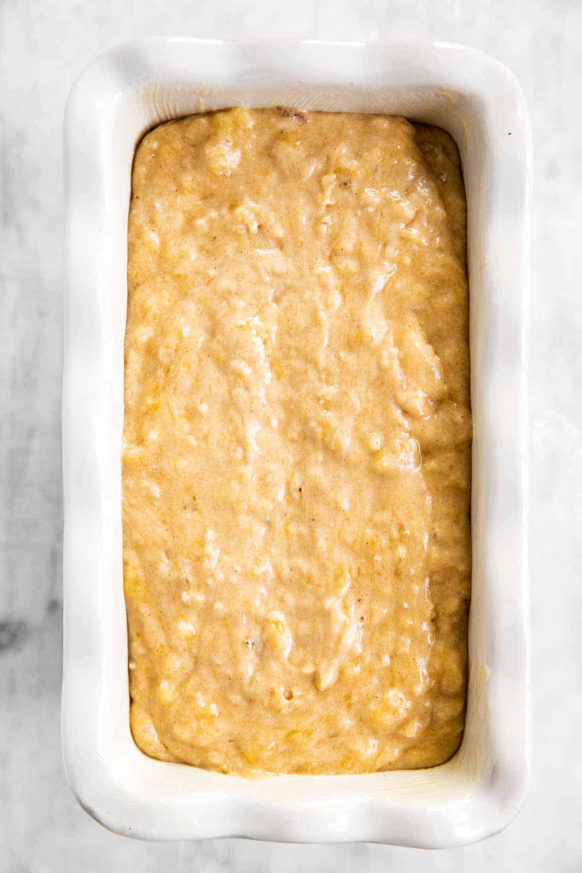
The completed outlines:
[[[469,204],[473,598],[462,746],[428,770],[243,780],[148,758],[129,730],[120,445],[134,149],[170,118],[233,105],[405,115],[444,127]],[[120,834],[419,847],[504,828],[531,756],[526,308],[531,136],[503,65],[426,42],[150,39],[98,58],[65,115],[65,769]]]

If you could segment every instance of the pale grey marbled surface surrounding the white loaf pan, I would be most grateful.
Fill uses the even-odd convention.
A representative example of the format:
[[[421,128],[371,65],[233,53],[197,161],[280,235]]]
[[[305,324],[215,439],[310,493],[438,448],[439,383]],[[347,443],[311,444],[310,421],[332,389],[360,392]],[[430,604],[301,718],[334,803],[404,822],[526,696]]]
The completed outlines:
[[[531,622],[534,767],[503,834],[466,849],[140,843],[66,786],[61,679],[61,123],[72,80],[123,40],[439,38],[513,68],[534,132]],[[0,4],[0,871],[582,870],[582,5],[578,0],[3,0]],[[578,107],[578,108],[577,108]],[[511,423],[508,421],[508,437]]]

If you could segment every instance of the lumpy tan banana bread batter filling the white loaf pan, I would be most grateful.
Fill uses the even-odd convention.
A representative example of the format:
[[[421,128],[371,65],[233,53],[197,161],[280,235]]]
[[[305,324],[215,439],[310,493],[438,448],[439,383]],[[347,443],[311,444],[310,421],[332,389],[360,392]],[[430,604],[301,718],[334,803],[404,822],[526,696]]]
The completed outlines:
[[[223,772],[448,759],[470,586],[459,157],[379,115],[155,128],[129,214],[131,727]]]

